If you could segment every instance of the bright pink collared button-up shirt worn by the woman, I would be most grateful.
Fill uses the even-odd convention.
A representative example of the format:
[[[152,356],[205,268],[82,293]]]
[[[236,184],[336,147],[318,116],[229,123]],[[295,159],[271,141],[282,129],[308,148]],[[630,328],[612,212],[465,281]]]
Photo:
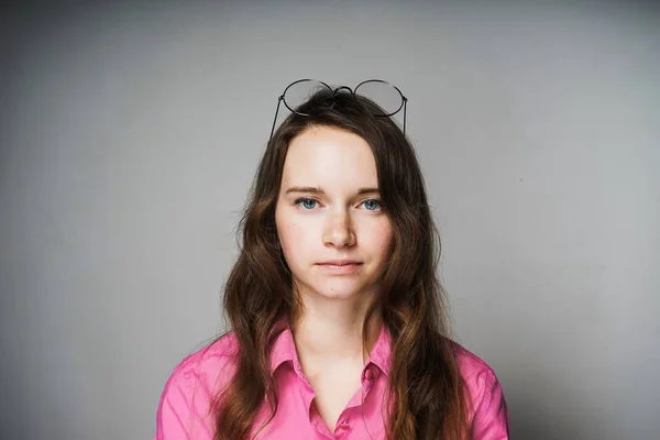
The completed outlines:
[[[279,407],[256,439],[385,439],[382,403],[392,363],[391,341],[383,327],[362,372],[362,389],[351,398],[331,431],[316,411],[310,411],[315,392],[300,367],[292,331],[282,332],[271,356]],[[473,399],[472,438],[508,439],[508,414],[495,373],[462,346],[455,344],[455,350],[460,373]],[[155,440],[212,440],[213,416],[209,414],[209,404],[235,371],[237,353],[238,342],[234,334],[229,333],[189,355],[174,370],[161,397]],[[267,416],[268,406],[264,404],[254,426],[261,426]]]

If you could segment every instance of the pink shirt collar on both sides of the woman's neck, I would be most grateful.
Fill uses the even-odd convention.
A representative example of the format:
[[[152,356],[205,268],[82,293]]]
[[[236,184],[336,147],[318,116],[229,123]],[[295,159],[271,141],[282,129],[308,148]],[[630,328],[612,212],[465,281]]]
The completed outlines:
[[[296,343],[294,342],[294,333],[289,326],[277,336],[271,350],[271,371],[274,373],[285,362],[290,361],[294,370],[301,373],[302,369],[296,352]],[[366,359],[366,365],[375,364],[381,371],[389,375],[392,369],[392,336],[386,326],[381,327],[378,339]],[[365,365],[365,366],[366,366]]]

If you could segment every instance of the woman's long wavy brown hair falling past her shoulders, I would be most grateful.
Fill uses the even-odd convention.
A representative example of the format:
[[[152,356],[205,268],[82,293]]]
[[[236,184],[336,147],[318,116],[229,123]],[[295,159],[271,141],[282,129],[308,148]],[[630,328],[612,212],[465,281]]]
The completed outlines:
[[[300,310],[275,227],[275,206],[290,141],[310,127],[355,133],[372,148],[381,200],[393,224],[394,244],[378,300],[364,322],[381,314],[392,336],[391,439],[469,438],[469,396],[459,374],[436,267],[440,240],[413,146],[373,101],[320,91],[292,113],[268,143],[239,224],[241,249],[226,284],[224,310],[239,344],[235,374],[217,396],[215,440],[249,439],[264,402],[271,419],[277,393],[270,351],[282,322]],[[286,319],[283,319],[286,318]],[[268,420],[270,421],[270,420]],[[266,422],[268,422],[266,421]]]

